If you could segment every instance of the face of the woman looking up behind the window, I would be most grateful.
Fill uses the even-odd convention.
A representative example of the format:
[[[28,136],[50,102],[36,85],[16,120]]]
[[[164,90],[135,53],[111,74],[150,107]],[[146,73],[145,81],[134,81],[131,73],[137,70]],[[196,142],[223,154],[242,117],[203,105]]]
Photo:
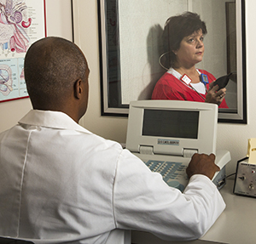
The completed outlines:
[[[183,37],[180,47],[173,51],[176,54],[178,66],[189,68],[201,62],[205,51],[203,39],[201,30],[195,31],[188,37]]]

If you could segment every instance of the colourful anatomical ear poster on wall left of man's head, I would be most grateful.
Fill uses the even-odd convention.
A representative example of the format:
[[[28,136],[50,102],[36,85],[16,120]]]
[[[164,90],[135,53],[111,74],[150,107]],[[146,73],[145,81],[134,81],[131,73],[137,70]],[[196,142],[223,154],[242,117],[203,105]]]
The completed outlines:
[[[45,0],[0,0],[0,102],[28,97],[24,58],[45,27]]]

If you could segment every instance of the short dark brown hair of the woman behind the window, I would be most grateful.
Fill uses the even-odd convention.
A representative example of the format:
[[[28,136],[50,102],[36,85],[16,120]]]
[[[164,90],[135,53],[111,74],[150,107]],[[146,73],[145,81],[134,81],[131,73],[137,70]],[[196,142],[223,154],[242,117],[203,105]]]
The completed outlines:
[[[172,50],[177,50],[183,37],[188,37],[195,31],[202,31],[207,34],[207,26],[200,16],[195,13],[185,12],[180,15],[172,16],[166,20],[166,25],[163,32],[163,48],[166,61],[164,66],[172,67],[176,61],[176,55]]]

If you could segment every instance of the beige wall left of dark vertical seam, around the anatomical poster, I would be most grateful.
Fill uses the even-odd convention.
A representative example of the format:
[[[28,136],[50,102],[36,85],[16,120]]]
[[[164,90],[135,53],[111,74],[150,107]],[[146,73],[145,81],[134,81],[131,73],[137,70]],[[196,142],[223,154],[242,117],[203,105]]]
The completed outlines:
[[[65,37],[72,40],[72,13],[70,0],[46,0],[47,36]],[[0,103],[0,132],[14,126],[32,109],[30,99]]]

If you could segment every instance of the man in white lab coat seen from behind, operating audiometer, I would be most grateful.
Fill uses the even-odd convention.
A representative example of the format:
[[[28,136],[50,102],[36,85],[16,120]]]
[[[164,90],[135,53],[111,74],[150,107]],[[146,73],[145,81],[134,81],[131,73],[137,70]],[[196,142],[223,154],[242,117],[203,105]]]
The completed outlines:
[[[79,126],[84,54],[60,37],[33,43],[25,78],[33,110],[0,134],[0,236],[34,243],[123,243],[125,230],[194,240],[223,212],[215,156],[193,156],[181,193],[130,151]]]

